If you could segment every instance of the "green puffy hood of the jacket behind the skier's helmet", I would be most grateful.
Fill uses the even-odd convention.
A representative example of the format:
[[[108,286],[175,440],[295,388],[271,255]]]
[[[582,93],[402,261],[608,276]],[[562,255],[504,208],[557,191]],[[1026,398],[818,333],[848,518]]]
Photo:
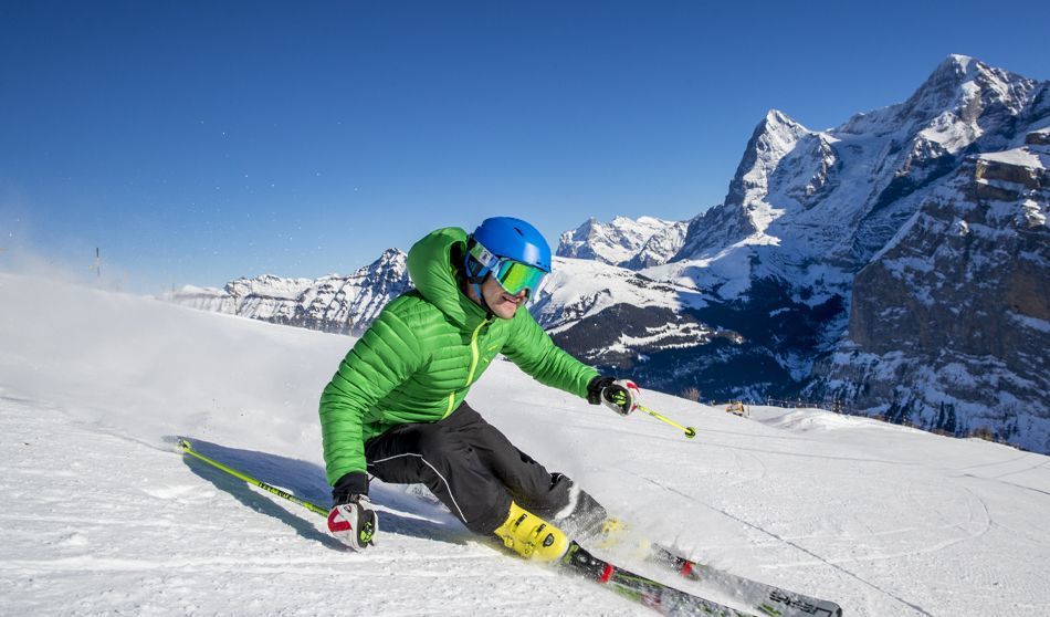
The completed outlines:
[[[447,227],[428,233],[408,252],[408,275],[417,291],[437,306],[450,322],[472,328],[485,318],[485,311],[460,291],[452,263],[453,248],[466,251],[466,231]]]

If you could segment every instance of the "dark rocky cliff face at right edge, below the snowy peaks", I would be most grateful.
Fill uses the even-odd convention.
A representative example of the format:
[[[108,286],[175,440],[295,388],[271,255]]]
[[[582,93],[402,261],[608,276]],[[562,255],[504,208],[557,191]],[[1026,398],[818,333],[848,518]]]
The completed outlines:
[[[847,406],[1050,451],[1050,146],[967,158],[853,283],[810,386]]]

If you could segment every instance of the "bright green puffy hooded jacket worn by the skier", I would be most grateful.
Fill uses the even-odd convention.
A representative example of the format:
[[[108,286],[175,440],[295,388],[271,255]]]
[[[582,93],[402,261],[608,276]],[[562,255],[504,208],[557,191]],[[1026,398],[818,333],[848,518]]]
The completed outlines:
[[[416,290],[391,301],[339,364],[321,396],[321,430],[329,484],[365,471],[365,442],[408,422],[435,422],[504,354],[543,384],[580,397],[598,375],[550,341],[518,308],[511,320],[486,315],[460,291],[452,252],[466,232],[439,229],[408,253]]]

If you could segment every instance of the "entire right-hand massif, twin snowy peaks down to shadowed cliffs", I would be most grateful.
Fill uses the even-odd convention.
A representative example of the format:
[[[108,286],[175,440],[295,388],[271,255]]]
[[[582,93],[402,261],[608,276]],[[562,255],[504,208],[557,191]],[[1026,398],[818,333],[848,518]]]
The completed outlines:
[[[725,201],[690,222],[669,262],[639,272],[700,290],[704,306],[674,318],[739,342],[605,368],[718,398],[808,386],[853,409],[1050,451],[1048,125],[1048,82],[959,55],[904,103],[837,128],[769,112]],[[599,314],[588,327],[623,322]],[[558,336],[589,357],[580,334]]]

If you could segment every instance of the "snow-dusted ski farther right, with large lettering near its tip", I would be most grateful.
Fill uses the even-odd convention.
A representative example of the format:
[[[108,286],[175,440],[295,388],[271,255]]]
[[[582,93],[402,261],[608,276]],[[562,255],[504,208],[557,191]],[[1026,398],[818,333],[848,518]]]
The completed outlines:
[[[710,565],[696,563],[660,544],[652,544],[649,561],[676,572],[683,578],[713,585],[771,617],[841,617],[842,608],[830,600],[789,592]]]

